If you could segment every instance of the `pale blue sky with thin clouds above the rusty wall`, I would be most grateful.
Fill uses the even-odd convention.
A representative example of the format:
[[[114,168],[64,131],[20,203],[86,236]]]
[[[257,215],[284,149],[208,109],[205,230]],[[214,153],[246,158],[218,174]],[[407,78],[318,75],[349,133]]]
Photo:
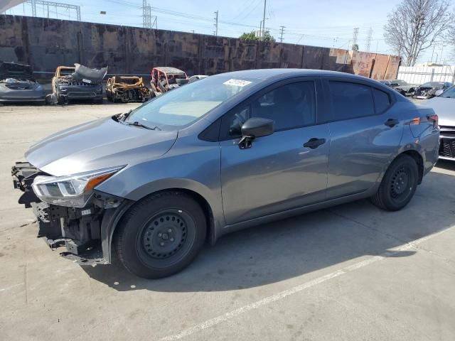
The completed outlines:
[[[142,0],[54,0],[81,6],[82,21],[142,26]],[[370,51],[392,54],[385,43],[382,28],[387,13],[400,0],[266,0],[266,23],[277,41],[280,26],[284,27],[283,42],[329,48],[349,48],[353,30],[358,28],[360,50],[367,50],[366,40],[373,30]],[[455,0],[451,0],[455,5]],[[239,37],[243,32],[259,29],[264,13],[264,0],[172,0],[151,1],[152,16],[159,29],[213,34],[215,11],[218,11],[218,36]],[[100,14],[106,11],[106,14]],[[7,13],[31,16],[31,5],[21,4]],[[37,15],[47,16],[47,8],[37,5]],[[51,18],[75,20],[75,11],[50,8]],[[155,18],[152,18],[154,21]],[[451,60],[451,48],[438,43],[422,53],[419,63],[429,60]]]

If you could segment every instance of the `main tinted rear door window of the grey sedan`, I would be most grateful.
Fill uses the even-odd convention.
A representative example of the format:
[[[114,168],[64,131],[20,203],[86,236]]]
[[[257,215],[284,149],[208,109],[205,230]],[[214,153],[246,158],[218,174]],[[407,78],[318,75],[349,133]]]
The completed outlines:
[[[357,119],[375,114],[371,87],[350,82],[330,82],[333,120]]]

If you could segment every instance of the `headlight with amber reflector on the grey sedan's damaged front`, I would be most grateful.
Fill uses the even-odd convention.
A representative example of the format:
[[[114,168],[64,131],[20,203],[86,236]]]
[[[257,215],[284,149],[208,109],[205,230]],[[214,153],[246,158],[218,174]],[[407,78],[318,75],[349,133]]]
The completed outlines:
[[[33,180],[33,192],[40,200],[49,204],[84,207],[92,196],[93,188],[123,167],[104,168],[67,176],[39,175]]]

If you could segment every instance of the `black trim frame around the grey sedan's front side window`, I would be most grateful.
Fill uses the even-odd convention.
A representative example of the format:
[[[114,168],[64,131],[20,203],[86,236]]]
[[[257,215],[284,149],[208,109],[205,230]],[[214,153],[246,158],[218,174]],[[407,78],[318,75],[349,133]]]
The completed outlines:
[[[230,109],[228,112],[223,114],[223,116],[221,117],[222,123],[221,123],[220,135],[218,137],[218,141],[235,140],[235,139],[239,139],[241,137],[241,136],[228,136],[227,134],[225,134],[225,131],[223,131],[223,129],[225,129],[225,126],[223,124],[223,117],[228,116],[229,114],[231,114],[235,110],[238,110],[238,109],[241,109],[242,107],[247,107],[247,106],[250,106],[250,112],[251,112],[251,104],[252,104],[252,102],[254,102],[255,100],[257,100],[260,97],[264,96],[264,94],[267,94],[268,92],[272,92],[273,90],[275,90],[275,89],[277,89],[279,87],[282,87],[284,85],[289,85],[289,84],[298,83],[298,82],[313,82],[313,84],[314,84],[314,97],[315,97],[314,98],[314,100],[315,100],[315,102],[314,102],[315,103],[315,121],[314,121],[314,124],[304,125],[304,126],[295,126],[293,128],[290,128],[290,129],[277,129],[275,131],[277,131],[277,132],[278,131],[287,131],[287,130],[292,130],[292,129],[301,129],[301,128],[304,128],[306,126],[317,125],[318,124],[318,113],[319,113],[319,110],[318,110],[319,109],[319,91],[321,89],[321,87],[318,87],[317,83],[321,82],[320,77],[314,77],[314,76],[311,76],[311,77],[292,77],[292,78],[289,78],[287,80],[281,80],[279,82],[273,83],[272,85],[264,87],[262,90],[259,90],[255,94],[252,94],[250,97],[245,99],[243,102],[240,102],[239,104],[235,105],[235,107],[232,107],[232,109]]]

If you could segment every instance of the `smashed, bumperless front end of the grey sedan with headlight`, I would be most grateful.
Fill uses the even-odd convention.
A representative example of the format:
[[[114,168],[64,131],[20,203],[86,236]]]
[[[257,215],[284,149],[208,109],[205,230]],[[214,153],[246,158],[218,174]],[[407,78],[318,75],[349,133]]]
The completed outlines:
[[[33,207],[38,222],[38,237],[45,239],[53,250],[65,247],[66,251],[60,253],[61,256],[94,266],[110,263],[114,227],[133,202],[90,186],[94,185],[94,181],[95,185],[100,183],[100,179],[119,169],[92,172],[95,175],[56,178],[30,163],[18,162],[12,167],[11,174],[14,176],[14,188],[23,192],[18,202]],[[80,188],[84,186],[82,194],[77,194],[78,185]],[[88,190],[85,190],[87,186]],[[70,194],[65,196],[69,199],[60,198],[58,193]]]

